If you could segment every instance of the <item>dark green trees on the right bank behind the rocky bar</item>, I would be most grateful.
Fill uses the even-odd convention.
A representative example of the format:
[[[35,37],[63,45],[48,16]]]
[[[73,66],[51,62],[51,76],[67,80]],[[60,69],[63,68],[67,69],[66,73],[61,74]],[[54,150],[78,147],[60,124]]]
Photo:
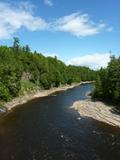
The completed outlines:
[[[120,57],[111,56],[107,68],[98,71],[93,97],[120,104]]]

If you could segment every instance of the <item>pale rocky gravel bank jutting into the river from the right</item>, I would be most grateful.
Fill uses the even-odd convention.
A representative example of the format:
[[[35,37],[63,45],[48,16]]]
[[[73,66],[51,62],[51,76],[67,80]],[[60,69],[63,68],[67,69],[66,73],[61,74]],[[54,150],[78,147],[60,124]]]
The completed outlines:
[[[120,127],[120,115],[113,112],[113,106],[108,106],[101,101],[93,102],[91,99],[77,101],[71,108],[77,110],[82,117],[90,117],[109,125]]]

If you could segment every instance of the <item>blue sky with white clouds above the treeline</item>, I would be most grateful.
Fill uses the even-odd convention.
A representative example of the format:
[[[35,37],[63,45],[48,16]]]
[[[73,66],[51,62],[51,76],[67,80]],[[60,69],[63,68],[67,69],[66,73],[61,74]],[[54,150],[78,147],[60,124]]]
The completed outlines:
[[[106,67],[119,56],[120,0],[0,0],[0,45],[13,37],[66,64]]]

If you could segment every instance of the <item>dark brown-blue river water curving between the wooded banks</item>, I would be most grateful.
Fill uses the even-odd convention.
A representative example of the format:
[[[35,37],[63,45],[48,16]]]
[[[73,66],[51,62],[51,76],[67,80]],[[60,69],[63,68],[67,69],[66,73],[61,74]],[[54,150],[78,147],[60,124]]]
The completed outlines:
[[[120,160],[120,129],[70,108],[85,84],[38,98],[0,120],[0,160]]]

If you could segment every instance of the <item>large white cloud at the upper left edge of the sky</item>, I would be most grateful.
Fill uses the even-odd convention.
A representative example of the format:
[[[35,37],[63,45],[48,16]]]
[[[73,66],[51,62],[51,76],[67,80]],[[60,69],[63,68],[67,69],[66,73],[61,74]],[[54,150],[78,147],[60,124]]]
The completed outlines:
[[[32,5],[27,2],[12,6],[0,2],[0,39],[11,37],[22,27],[30,30],[45,30],[47,23],[32,13]]]

